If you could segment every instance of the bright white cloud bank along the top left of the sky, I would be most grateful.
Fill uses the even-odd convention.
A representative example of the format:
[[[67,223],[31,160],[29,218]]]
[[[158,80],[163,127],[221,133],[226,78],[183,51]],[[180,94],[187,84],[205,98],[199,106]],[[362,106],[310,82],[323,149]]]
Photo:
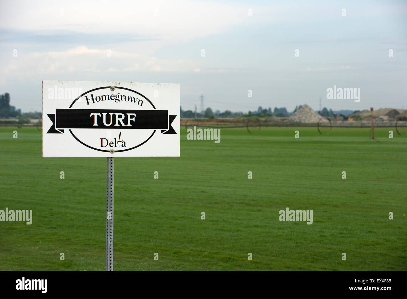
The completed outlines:
[[[183,41],[219,33],[247,20],[247,5],[175,1],[10,1],[0,27],[13,30],[121,33]],[[154,15],[155,9],[158,16]]]

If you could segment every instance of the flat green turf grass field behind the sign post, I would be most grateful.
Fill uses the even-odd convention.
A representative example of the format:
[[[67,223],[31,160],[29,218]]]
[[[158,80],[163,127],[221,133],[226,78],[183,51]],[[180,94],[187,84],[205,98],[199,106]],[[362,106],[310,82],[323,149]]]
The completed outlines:
[[[215,144],[181,127],[181,157],[116,158],[114,270],[407,270],[407,136],[376,131],[221,129]],[[0,222],[0,270],[105,270],[106,158],[42,158],[36,128],[0,143],[0,210],[33,210]],[[280,222],[286,207],[313,224]]]

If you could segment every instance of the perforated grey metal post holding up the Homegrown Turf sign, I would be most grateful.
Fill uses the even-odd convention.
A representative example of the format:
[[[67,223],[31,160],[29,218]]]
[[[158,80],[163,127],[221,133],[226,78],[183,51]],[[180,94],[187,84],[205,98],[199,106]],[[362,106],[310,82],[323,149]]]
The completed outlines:
[[[106,271],[113,271],[114,157],[107,157],[106,177]]]

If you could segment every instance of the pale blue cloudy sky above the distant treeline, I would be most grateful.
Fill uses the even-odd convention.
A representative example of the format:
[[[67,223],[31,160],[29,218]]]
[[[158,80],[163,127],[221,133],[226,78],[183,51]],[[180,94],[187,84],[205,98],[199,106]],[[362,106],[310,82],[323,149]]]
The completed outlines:
[[[183,110],[407,109],[407,1],[0,0],[0,45],[23,112],[42,80],[180,83]]]

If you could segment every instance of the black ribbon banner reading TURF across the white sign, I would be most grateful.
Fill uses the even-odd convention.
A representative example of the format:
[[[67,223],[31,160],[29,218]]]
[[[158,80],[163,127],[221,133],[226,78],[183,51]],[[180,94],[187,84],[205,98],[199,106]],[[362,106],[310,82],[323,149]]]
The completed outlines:
[[[176,134],[171,123],[175,115],[168,110],[56,109],[48,114],[53,126],[47,134],[60,134],[63,129],[162,129]]]

